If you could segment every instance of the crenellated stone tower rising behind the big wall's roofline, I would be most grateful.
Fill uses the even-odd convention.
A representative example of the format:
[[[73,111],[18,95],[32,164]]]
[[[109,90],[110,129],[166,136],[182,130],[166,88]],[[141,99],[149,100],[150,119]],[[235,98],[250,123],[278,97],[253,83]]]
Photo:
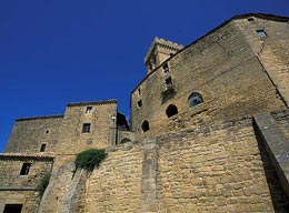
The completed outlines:
[[[144,57],[147,73],[149,74],[163,61],[166,61],[168,58],[170,58],[181,49],[183,49],[183,45],[181,44],[166,41],[165,39],[159,39],[158,37],[156,37]]]

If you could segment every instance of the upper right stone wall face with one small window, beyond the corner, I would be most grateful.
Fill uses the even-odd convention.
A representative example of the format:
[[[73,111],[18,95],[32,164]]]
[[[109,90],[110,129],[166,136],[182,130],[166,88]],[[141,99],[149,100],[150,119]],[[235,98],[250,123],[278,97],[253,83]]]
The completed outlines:
[[[235,22],[245,34],[287,105],[289,105],[288,21],[253,18],[251,21],[241,19]],[[263,30],[267,37],[258,37],[257,30]]]

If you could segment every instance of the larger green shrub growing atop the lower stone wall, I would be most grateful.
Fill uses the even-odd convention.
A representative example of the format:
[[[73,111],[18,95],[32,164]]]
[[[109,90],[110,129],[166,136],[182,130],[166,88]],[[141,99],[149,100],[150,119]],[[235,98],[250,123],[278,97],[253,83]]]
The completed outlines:
[[[98,168],[101,161],[107,158],[107,152],[104,149],[102,150],[87,150],[80,152],[74,161],[76,170],[77,169],[84,169],[87,171],[92,171],[94,168]]]

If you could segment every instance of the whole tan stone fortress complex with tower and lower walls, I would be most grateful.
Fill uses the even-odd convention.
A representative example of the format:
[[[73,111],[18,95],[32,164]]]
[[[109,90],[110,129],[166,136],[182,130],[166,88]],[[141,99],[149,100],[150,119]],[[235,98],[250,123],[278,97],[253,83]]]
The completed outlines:
[[[156,38],[144,64],[130,126],[116,100],[16,120],[0,212],[289,212],[289,18],[237,16],[187,47]],[[72,175],[92,148],[108,158]]]

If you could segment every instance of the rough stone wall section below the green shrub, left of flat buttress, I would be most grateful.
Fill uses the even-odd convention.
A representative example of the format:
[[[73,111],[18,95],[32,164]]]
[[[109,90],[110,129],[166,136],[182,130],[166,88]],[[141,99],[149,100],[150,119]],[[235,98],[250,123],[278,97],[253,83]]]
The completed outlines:
[[[141,212],[141,148],[109,152],[87,181],[84,212]]]

